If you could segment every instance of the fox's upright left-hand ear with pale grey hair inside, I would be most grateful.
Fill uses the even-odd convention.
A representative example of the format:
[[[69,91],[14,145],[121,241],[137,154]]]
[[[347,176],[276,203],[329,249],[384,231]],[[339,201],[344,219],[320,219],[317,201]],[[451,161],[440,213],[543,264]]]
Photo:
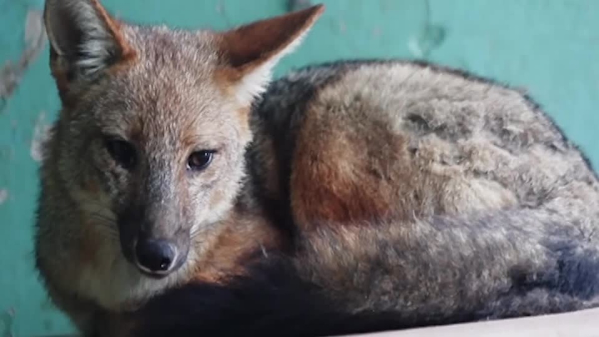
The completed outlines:
[[[50,40],[50,67],[59,86],[92,80],[134,54],[119,22],[98,0],[46,0],[44,25]]]

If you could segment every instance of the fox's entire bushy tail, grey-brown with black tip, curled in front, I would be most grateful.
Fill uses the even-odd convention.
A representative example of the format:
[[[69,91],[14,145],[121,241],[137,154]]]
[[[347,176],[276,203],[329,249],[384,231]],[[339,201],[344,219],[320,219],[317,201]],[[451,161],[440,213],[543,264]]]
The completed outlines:
[[[319,228],[297,256],[157,297],[137,336],[325,336],[599,305],[592,234],[549,208]]]

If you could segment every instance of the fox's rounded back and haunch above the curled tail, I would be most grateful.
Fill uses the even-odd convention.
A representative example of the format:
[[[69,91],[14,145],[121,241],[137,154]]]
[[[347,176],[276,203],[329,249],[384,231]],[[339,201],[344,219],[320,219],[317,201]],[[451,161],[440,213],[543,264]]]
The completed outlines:
[[[448,68],[307,67],[270,86],[254,127],[267,195],[288,198],[308,227],[538,207],[564,197],[579,201],[581,212],[599,209],[588,161],[533,100]],[[571,213],[571,206],[555,208]]]

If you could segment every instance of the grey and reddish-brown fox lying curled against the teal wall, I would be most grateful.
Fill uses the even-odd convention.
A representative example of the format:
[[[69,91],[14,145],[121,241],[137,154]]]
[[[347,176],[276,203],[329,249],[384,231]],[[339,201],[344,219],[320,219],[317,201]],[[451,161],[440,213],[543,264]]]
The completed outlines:
[[[332,336],[599,304],[599,183],[524,92],[409,59],[274,79],[325,7],[222,31],[46,0],[35,267],[86,337]]]

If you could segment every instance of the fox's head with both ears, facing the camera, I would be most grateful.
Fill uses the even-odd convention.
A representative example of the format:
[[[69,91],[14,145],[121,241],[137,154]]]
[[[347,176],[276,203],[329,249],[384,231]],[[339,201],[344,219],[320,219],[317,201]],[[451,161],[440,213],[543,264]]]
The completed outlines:
[[[250,106],[322,11],[181,31],[117,20],[97,0],[46,1],[58,174],[143,273],[177,270],[190,237],[232,207]]]

